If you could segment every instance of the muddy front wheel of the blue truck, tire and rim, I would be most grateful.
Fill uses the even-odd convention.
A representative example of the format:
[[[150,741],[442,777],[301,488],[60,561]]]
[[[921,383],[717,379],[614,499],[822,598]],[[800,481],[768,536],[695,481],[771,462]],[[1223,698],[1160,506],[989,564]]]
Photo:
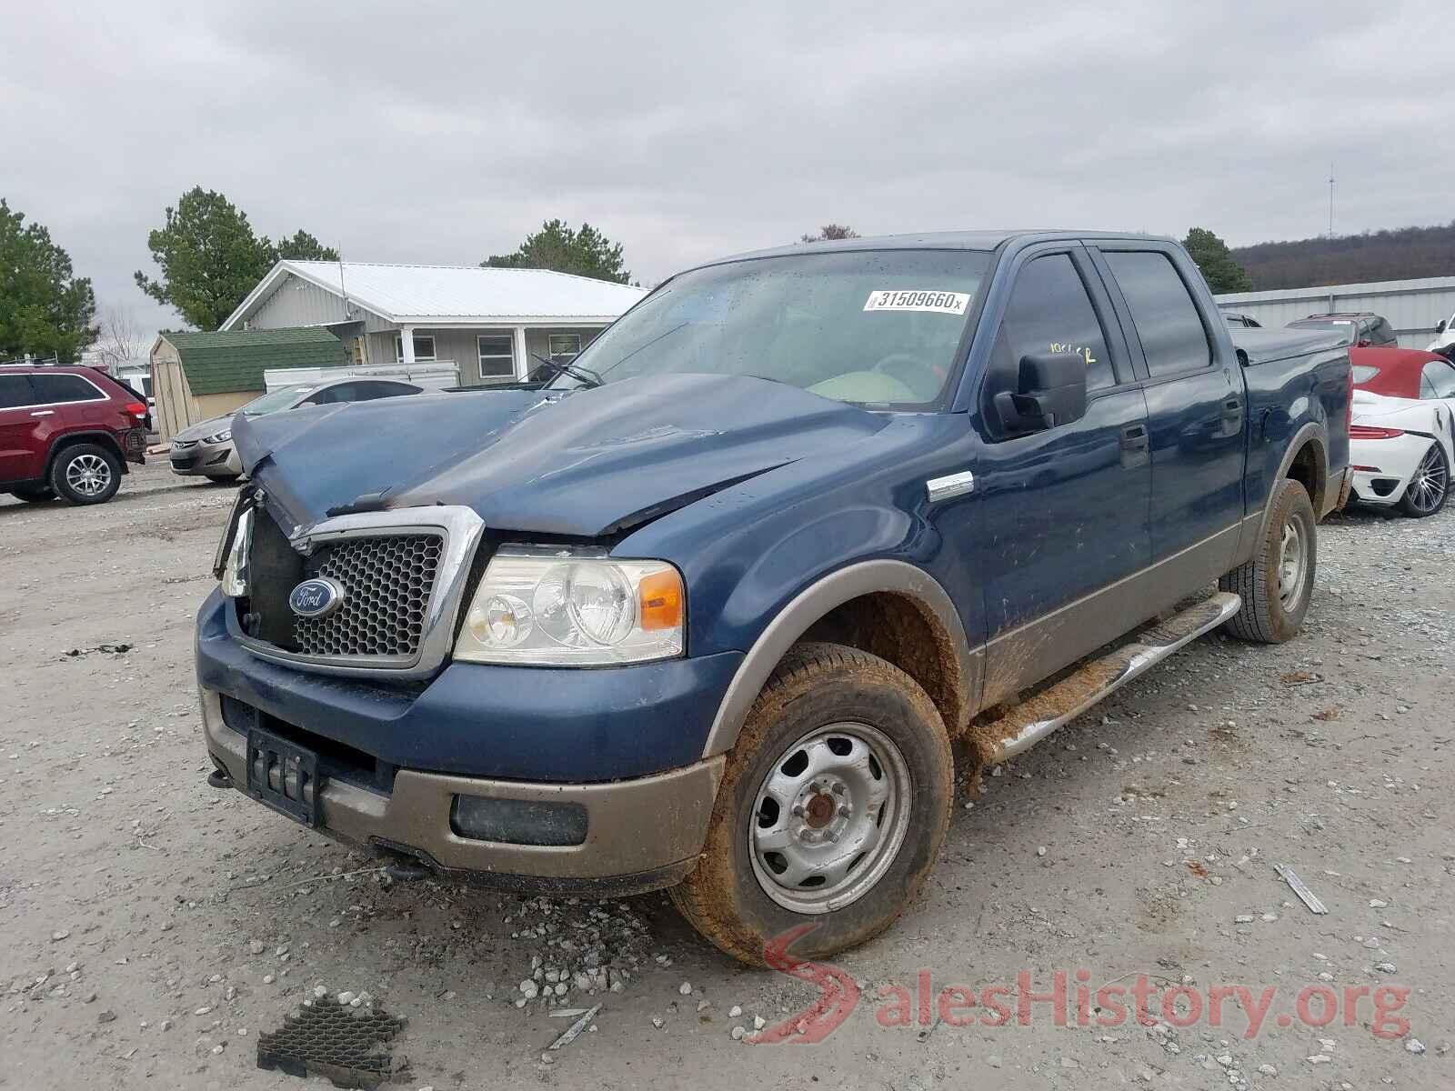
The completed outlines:
[[[934,703],[899,668],[841,644],[794,646],[758,694],[681,914],[739,962],[792,946],[824,957],[877,935],[940,852],[953,759]]]

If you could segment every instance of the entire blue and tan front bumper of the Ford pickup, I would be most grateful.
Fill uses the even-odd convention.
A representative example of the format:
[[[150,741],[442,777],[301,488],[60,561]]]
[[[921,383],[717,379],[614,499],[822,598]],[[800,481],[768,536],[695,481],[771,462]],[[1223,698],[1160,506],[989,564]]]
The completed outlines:
[[[450,663],[423,687],[307,674],[250,655],[214,592],[198,615],[207,746],[246,786],[250,724],[348,765],[323,775],[322,832],[517,890],[597,896],[681,880],[707,834],[722,759],[703,759],[738,652],[626,668]],[[224,717],[223,700],[233,710]],[[320,770],[322,771],[322,770]],[[461,836],[457,796],[579,804],[585,841]]]

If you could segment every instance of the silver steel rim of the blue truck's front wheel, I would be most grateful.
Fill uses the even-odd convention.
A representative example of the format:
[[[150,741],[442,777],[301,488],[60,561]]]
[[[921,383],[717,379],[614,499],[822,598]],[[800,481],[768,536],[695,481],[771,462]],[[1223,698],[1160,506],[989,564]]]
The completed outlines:
[[[867,723],[816,727],[764,774],[748,815],[758,886],[796,914],[824,914],[867,895],[909,826],[909,764]]]

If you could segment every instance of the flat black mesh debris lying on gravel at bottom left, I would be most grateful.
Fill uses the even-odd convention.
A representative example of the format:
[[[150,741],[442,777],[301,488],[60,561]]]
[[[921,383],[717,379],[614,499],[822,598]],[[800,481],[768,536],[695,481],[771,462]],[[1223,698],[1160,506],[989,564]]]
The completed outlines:
[[[390,1047],[404,1023],[383,1008],[304,1001],[284,1017],[282,1027],[258,1036],[258,1068],[323,1076],[335,1087],[377,1088],[409,1068]]]

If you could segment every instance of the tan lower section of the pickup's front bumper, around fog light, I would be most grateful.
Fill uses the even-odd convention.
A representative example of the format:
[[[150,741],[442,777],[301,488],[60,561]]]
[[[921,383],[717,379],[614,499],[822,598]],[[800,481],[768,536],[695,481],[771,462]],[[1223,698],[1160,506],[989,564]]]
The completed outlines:
[[[223,720],[218,694],[201,691],[202,730],[215,765],[247,783],[247,739]],[[388,793],[326,778],[320,831],[346,844],[413,857],[485,886],[618,896],[681,882],[707,835],[723,758],[608,784],[533,784],[400,770]],[[586,812],[579,845],[521,845],[460,836],[457,796],[570,803]]]

